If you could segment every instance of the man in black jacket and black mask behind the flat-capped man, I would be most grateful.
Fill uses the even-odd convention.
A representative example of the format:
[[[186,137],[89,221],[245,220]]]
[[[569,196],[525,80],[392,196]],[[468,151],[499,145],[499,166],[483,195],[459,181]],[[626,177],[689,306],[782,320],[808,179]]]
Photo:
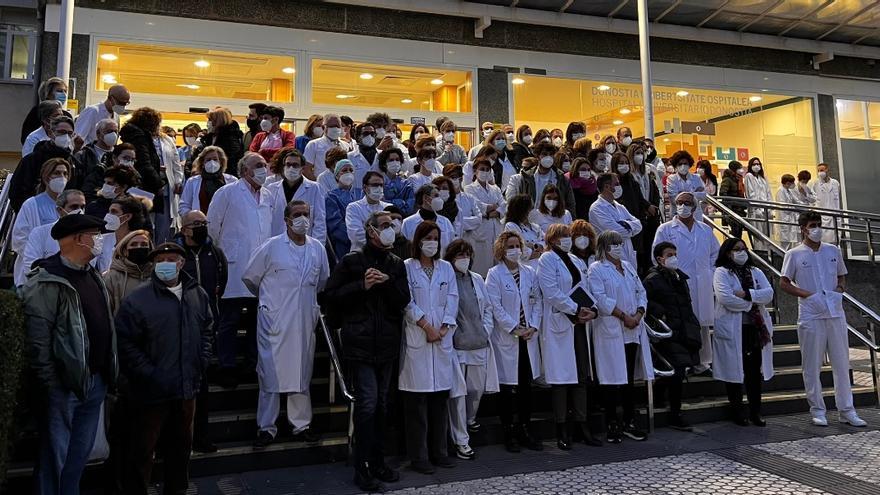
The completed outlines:
[[[229,276],[226,255],[208,237],[208,219],[199,210],[187,212],[181,219],[182,228],[174,242],[186,251],[183,271],[208,293],[211,313],[218,321],[217,300],[226,291]],[[208,374],[202,374],[202,387],[196,399],[196,417],[193,425],[193,450],[216,452],[217,446],[207,437],[208,431]]]

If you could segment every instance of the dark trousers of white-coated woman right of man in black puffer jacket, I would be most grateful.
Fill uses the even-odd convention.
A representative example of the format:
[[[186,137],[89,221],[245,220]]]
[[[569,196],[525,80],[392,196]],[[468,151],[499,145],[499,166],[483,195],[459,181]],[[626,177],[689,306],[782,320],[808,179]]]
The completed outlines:
[[[449,391],[403,392],[406,417],[406,453],[412,462],[447,457]]]

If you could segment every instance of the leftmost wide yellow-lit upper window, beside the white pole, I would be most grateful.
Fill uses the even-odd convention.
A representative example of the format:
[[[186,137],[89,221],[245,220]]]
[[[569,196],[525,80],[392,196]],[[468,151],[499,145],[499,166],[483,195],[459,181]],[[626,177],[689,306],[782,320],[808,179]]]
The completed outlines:
[[[294,101],[293,57],[204,48],[98,43],[95,89],[215,99]]]

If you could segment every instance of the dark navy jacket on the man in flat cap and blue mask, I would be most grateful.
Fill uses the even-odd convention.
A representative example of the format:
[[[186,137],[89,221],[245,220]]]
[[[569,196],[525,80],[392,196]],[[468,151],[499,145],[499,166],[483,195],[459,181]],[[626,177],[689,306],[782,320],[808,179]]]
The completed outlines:
[[[180,281],[181,300],[153,275],[116,313],[119,361],[139,403],[195,398],[208,367],[214,328],[208,295],[186,273]]]

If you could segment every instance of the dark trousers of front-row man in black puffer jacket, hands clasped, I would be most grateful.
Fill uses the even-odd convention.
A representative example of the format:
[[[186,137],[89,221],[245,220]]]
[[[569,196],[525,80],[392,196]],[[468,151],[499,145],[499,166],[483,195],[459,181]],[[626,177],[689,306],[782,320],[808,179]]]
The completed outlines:
[[[356,465],[385,464],[385,414],[392,362],[353,362],[349,366],[354,384],[354,457]]]

